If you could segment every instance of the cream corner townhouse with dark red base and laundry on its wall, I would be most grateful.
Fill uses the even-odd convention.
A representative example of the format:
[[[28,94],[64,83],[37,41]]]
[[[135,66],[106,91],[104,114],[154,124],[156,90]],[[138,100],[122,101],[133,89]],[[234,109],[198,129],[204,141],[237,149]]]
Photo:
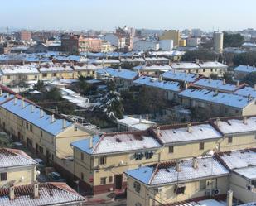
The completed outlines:
[[[126,188],[123,172],[159,160],[161,147],[148,131],[107,133],[75,141],[75,176],[94,194]]]

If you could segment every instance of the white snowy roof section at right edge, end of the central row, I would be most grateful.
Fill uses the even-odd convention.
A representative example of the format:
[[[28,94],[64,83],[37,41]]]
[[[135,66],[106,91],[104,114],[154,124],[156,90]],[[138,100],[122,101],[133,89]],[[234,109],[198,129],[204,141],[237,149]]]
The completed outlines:
[[[242,118],[220,119],[218,123],[215,121],[215,125],[224,134],[256,132],[256,117],[247,117],[246,122]]]

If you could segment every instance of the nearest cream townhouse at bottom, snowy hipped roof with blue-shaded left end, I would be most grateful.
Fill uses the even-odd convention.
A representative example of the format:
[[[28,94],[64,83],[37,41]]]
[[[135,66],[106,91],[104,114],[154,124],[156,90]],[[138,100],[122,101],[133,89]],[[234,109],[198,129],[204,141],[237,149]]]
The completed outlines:
[[[172,205],[186,200],[224,198],[229,170],[215,156],[147,165],[125,172],[128,205]]]

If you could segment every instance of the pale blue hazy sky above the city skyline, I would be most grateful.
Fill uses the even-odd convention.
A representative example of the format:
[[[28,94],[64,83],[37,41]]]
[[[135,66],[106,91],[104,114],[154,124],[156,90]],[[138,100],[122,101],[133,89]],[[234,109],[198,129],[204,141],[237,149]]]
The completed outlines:
[[[256,28],[255,0],[0,0],[0,27],[55,30]]]

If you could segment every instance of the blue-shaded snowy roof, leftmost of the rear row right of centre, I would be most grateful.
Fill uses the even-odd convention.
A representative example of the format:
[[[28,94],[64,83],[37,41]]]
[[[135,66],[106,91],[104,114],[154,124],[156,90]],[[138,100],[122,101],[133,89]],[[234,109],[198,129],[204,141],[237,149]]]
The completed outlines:
[[[197,74],[191,74],[186,72],[180,72],[175,70],[170,70],[162,74],[164,79],[171,79],[175,81],[182,81],[182,82],[195,82],[198,78]]]

